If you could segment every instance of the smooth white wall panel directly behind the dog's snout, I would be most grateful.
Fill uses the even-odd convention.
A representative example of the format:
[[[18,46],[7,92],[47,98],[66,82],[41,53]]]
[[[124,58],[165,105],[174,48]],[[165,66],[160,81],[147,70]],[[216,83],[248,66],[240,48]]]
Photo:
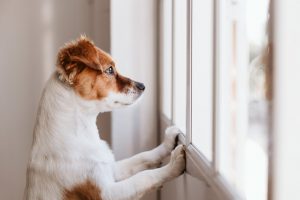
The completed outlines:
[[[146,86],[137,105],[112,113],[117,159],[157,145],[157,14],[155,0],[111,1],[112,56],[121,73]]]

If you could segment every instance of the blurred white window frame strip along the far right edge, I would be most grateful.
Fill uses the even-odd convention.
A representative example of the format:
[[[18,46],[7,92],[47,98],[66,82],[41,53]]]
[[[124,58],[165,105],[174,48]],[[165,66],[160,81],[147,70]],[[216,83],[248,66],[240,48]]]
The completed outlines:
[[[274,82],[270,196],[274,200],[300,197],[299,10],[299,2],[293,0],[274,0],[271,6]]]

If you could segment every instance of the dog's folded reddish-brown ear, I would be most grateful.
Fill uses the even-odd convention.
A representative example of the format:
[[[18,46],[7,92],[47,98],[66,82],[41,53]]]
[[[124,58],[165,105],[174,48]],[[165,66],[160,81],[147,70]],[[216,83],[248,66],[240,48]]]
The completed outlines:
[[[98,51],[93,42],[85,36],[81,36],[78,40],[68,43],[60,49],[56,66],[60,79],[71,85],[76,75],[85,67],[102,70]]]

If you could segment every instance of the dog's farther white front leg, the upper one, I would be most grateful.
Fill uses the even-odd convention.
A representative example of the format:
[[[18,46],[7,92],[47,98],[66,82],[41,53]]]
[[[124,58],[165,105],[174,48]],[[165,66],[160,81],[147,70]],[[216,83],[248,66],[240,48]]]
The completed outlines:
[[[114,166],[115,180],[124,180],[140,171],[158,167],[162,159],[175,148],[179,132],[177,127],[169,127],[165,131],[164,142],[155,149],[116,162]]]

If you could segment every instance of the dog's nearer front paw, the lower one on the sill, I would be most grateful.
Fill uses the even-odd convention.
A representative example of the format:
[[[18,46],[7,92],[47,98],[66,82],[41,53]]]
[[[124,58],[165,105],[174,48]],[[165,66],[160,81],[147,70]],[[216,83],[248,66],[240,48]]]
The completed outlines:
[[[177,177],[185,170],[185,147],[178,145],[171,153],[171,159],[168,163],[171,177]]]

